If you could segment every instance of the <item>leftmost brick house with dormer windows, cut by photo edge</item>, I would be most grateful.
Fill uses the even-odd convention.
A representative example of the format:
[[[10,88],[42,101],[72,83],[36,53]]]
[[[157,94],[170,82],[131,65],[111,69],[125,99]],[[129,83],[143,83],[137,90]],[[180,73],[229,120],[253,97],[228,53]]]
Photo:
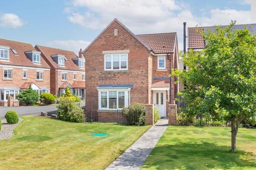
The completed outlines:
[[[0,39],[0,67],[0,106],[19,106],[17,94],[30,84],[50,92],[50,66],[31,44]]]

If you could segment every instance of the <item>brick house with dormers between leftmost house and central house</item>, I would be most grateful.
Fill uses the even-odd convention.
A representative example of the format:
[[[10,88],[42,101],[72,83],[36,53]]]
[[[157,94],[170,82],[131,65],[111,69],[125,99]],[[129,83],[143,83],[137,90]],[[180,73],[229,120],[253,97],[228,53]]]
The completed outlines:
[[[42,57],[51,67],[51,94],[61,96],[69,87],[73,95],[85,98],[84,56],[68,50],[36,45]]]

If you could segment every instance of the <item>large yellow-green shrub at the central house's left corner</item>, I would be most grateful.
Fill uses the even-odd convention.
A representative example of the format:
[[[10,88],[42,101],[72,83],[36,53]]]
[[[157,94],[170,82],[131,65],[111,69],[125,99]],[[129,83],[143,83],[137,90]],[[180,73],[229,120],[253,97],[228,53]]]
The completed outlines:
[[[78,123],[84,122],[84,111],[73,99],[61,97],[56,107],[58,108],[60,120]]]

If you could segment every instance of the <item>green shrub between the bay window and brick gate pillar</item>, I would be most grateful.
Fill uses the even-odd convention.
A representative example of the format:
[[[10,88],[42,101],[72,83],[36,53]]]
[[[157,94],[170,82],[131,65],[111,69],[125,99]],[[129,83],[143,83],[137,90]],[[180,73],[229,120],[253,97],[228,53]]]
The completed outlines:
[[[127,118],[129,125],[145,125],[145,105],[132,104],[128,108],[123,108],[123,115]]]

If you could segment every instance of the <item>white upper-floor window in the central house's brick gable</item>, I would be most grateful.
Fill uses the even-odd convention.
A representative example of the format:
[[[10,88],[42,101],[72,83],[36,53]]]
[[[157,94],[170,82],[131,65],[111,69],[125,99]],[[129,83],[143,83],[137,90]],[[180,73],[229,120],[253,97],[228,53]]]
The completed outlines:
[[[128,54],[105,54],[104,70],[128,70]]]

